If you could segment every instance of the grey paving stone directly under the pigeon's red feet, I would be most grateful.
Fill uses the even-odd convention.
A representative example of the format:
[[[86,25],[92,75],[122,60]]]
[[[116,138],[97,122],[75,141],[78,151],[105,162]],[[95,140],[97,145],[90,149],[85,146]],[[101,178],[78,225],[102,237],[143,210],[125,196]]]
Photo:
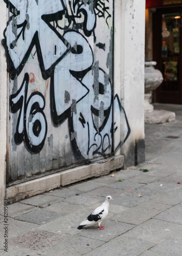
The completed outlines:
[[[114,239],[135,227],[135,225],[119,223],[111,220],[105,220],[102,225],[105,226],[105,230],[97,230],[97,226],[90,225],[84,227],[78,234],[79,236],[93,239],[97,238],[98,240],[108,242],[109,240]]]

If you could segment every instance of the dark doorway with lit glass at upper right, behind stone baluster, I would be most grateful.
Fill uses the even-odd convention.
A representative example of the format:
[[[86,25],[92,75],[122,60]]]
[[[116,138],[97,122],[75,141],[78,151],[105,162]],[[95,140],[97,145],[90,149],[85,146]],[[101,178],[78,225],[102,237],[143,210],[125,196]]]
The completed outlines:
[[[182,7],[153,13],[153,60],[164,77],[154,101],[182,104]]]

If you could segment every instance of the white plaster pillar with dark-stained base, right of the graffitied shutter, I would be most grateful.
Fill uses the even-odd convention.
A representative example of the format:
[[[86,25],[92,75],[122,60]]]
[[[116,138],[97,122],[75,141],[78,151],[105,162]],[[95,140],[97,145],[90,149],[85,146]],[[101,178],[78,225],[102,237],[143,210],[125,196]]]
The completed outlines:
[[[119,87],[121,89],[121,103],[131,128],[131,134],[121,147],[125,166],[145,160],[144,48],[145,0],[116,0],[115,90],[118,93]],[[121,138],[123,136],[124,124],[121,123]]]

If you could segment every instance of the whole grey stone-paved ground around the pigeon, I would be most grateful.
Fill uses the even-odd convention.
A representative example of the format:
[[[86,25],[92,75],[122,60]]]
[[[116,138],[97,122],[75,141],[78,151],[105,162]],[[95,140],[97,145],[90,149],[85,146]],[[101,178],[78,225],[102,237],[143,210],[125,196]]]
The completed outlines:
[[[8,252],[0,208],[0,255],[182,255],[182,106],[155,108],[176,120],[146,125],[145,163],[9,205]],[[76,229],[108,195],[105,230]]]

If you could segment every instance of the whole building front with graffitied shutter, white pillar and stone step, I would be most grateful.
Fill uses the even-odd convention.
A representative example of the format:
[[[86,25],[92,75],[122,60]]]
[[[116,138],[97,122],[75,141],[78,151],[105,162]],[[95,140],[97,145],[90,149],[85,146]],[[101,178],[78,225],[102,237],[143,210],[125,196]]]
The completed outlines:
[[[145,1],[4,0],[1,204],[145,159]]]

